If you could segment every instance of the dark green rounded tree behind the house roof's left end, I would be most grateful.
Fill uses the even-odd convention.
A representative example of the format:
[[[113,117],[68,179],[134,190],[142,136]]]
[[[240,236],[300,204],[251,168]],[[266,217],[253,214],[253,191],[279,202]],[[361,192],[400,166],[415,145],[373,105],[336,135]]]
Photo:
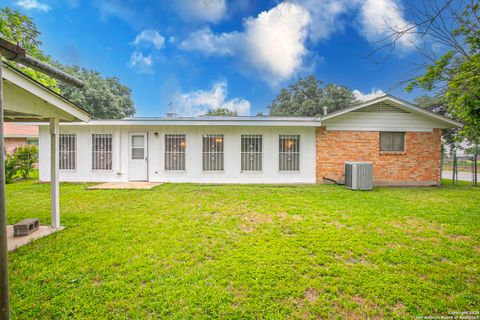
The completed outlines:
[[[78,89],[58,83],[62,95],[84,107],[98,119],[121,119],[135,114],[131,90],[118,78],[103,78],[100,72],[57,64],[63,71],[83,80],[85,87]]]

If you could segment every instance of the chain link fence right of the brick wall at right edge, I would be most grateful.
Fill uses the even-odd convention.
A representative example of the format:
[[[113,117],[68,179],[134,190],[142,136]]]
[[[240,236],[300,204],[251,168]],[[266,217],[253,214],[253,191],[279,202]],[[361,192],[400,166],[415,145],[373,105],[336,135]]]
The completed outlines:
[[[480,180],[480,154],[462,155],[445,153],[442,156],[442,178],[452,181],[457,185],[458,181],[469,181],[474,186],[479,185]]]

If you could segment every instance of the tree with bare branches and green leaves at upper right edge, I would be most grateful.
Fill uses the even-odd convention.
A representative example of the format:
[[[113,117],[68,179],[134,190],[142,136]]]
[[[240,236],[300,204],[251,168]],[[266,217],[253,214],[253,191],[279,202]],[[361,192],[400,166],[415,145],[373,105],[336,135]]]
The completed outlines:
[[[464,123],[461,134],[480,140],[480,4],[477,0],[414,2],[406,11],[409,24],[392,28],[380,48],[390,52],[402,39],[420,55],[416,74],[403,83],[443,91],[448,111]],[[379,49],[380,49],[379,48]]]

